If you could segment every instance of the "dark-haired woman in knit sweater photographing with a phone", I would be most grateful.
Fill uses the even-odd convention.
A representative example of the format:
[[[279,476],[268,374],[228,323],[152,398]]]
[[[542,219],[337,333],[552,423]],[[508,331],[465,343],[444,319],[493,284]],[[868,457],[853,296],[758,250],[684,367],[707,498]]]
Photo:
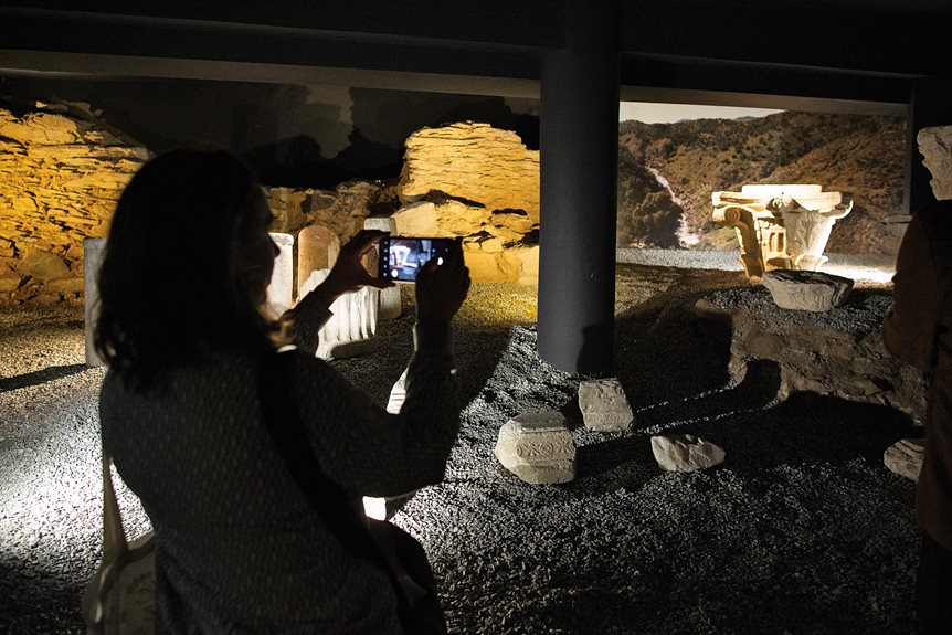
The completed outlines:
[[[351,555],[297,486],[262,415],[262,317],[277,250],[251,172],[225,152],[144,166],[116,209],[96,346],[109,363],[103,442],[156,532],[159,633],[400,633],[388,574]],[[416,284],[415,352],[399,415],[314,357],[341,294],[372,278],[361,232],[290,320],[285,384],[324,473],[348,494],[438,483],[459,425],[449,321],[469,286],[458,246]],[[306,348],[305,348],[306,347]]]

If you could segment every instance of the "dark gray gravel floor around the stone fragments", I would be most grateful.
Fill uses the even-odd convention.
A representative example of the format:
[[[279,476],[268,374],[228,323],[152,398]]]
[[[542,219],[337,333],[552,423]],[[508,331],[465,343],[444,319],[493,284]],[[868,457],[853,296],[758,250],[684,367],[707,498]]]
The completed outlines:
[[[815,394],[776,403],[775,378],[755,369],[731,384],[730,334],[684,307],[745,286],[736,271],[618,266],[616,373],[637,412],[625,434],[580,425],[580,378],[536,356],[530,289],[474,289],[457,325],[468,405],[447,478],[393,510],[431,555],[452,632],[917,632],[914,487],[881,463],[910,422]],[[410,324],[381,325],[378,352],[336,366],[385,402]],[[83,366],[82,315],[68,309],[0,309],[0,633],[81,633],[80,588],[99,555],[104,372]],[[495,461],[496,435],[550,409],[573,423],[579,475],[526,485]],[[664,473],[658,433],[698,434],[727,461]],[[131,532],[145,529],[121,498]]]

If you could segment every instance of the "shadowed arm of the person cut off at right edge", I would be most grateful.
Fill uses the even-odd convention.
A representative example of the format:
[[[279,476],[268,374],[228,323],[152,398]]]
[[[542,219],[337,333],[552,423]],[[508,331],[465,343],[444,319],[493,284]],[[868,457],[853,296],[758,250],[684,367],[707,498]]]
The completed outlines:
[[[939,281],[929,240],[918,215],[913,215],[906,229],[892,283],[892,308],[882,324],[886,350],[929,372],[935,360]]]

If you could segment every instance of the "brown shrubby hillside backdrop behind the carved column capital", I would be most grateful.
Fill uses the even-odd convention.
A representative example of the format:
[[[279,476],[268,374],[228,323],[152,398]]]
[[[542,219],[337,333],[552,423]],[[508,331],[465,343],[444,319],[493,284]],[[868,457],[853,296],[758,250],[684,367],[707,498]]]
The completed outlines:
[[[733,248],[710,219],[711,192],[818,183],[851,192],[827,251],[895,253],[887,218],[902,202],[905,120],[785,112],[762,118],[618,126],[618,244]]]

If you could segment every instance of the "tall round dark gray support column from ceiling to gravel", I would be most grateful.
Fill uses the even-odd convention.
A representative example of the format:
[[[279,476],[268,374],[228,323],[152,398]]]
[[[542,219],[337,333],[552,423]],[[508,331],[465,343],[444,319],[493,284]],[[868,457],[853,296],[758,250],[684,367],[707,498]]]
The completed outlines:
[[[565,47],[542,60],[539,356],[613,366],[618,161],[615,0],[565,0]]]

